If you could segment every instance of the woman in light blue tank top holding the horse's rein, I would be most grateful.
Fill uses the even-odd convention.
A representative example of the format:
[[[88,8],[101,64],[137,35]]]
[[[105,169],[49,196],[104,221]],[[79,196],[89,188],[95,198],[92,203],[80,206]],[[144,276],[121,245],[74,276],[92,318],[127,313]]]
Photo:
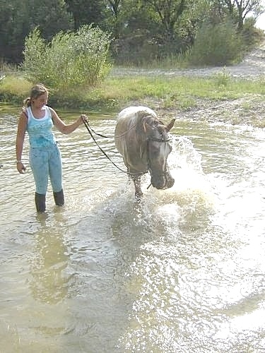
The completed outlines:
[[[24,101],[24,107],[18,121],[16,137],[16,167],[20,174],[25,172],[21,160],[25,131],[30,141],[30,167],[36,185],[35,205],[38,213],[45,212],[48,179],[52,184],[56,205],[64,205],[62,188],[61,153],[52,133],[52,127],[64,134],[76,130],[87,116],[82,114],[72,124],[64,124],[54,109],[47,107],[49,92],[44,85],[34,85],[30,97]]]

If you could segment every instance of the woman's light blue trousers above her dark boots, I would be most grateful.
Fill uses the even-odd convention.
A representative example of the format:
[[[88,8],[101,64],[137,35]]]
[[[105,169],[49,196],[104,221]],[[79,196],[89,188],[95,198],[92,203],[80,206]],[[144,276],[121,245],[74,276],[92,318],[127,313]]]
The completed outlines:
[[[30,148],[30,167],[36,184],[36,192],[47,192],[48,180],[51,181],[52,191],[62,189],[61,153],[56,145],[46,148]]]

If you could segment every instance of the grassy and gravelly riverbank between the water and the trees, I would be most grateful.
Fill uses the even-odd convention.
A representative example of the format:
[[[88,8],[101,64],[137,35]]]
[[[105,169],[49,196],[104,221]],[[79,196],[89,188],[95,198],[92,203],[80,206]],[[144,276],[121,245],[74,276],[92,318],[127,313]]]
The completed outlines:
[[[22,104],[32,83],[21,73],[0,83],[0,100]],[[264,127],[265,43],[242,63],[225,68],[165,70],[113,68],[97,88],[53,92],[56,109],[116,114],[129,105],[146,105],[160,118],[221,121]]]

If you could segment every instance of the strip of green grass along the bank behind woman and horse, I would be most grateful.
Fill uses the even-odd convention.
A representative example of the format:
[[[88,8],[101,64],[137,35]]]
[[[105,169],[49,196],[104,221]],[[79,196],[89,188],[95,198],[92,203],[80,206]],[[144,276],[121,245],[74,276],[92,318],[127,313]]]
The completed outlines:
[[[22,104],[32,83],[23,76],[7,75],[0,81],[2,102]],[[230,77],[224,70],[215,76],[109,76],[96,88],[72,88],[51,92],[49,103],[54,107],[73,109],[119,109],[130,102],[144,104],[148,100],[161,107],[187,109],[196,101],[235,100],[244,95],[265,95],[265,80],[244,80]]]

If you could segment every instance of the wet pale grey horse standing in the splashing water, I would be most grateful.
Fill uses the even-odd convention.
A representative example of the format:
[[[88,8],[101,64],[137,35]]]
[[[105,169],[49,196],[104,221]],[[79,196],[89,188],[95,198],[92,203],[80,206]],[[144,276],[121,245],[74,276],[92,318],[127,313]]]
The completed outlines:
[[[136,198],[141,198],[141,175],[150,172],[151,184],[156,189],[173,186],[167,166],[167,156],[172,148],[167,132],[175,123],[166,126],[148,107],[128,107],[117,117],[114,140],[127,171],[134,181]]]

